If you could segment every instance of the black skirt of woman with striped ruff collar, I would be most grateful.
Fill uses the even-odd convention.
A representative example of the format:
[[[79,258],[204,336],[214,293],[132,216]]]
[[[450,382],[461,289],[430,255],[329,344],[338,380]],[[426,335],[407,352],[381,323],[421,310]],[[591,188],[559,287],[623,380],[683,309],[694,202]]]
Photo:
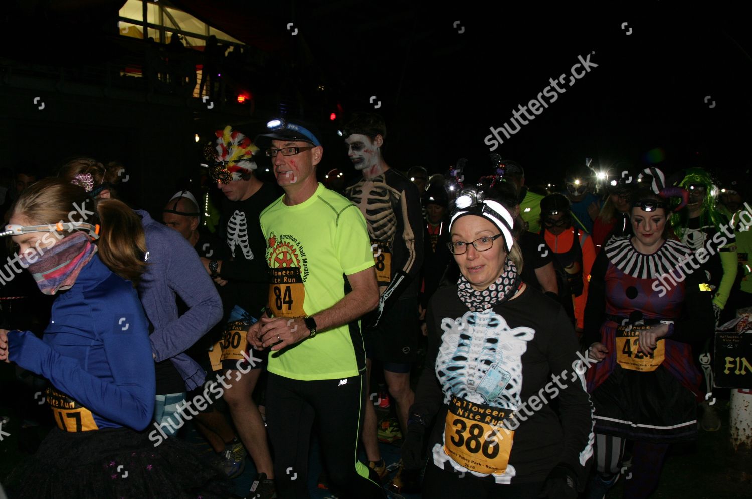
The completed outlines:
[[[654,443],[697,437],[695,395],[663,366],[639,372],[617,364],[590,398],[596,433]]]

